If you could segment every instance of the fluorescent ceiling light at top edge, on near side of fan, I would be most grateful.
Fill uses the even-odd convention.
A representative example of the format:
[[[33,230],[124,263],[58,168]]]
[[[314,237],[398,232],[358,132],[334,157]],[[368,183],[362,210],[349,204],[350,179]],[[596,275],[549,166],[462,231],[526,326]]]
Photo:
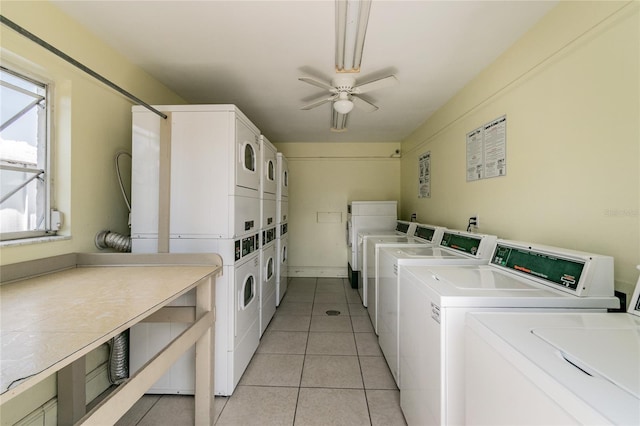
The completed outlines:
[[[360,72],[371,0],[336,0],[336,71]]]

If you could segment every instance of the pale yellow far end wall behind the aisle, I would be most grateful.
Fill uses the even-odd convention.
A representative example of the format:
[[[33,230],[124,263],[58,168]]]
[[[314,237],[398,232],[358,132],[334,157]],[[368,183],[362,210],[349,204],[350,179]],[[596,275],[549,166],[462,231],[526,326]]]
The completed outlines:
[[[400,160],[391,155],[400,144],[275,145],[289,162],[290,276],[346,276],[347,203],[399,200]],[[339,221],[319,222],[318,213]]]

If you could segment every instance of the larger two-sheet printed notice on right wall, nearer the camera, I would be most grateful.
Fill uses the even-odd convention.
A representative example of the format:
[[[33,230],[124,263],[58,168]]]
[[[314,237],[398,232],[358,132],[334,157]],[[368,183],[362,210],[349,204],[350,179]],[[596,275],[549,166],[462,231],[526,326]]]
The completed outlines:
[[[507,174],[507,116],[467,133],[467,182]]]

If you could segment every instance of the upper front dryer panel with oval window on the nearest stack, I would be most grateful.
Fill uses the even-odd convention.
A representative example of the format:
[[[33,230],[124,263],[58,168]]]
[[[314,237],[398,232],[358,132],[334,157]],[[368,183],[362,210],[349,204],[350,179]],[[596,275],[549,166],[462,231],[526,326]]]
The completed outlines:
[[[236,119],[236,186],[260,190],[260,143],[258,135]]]

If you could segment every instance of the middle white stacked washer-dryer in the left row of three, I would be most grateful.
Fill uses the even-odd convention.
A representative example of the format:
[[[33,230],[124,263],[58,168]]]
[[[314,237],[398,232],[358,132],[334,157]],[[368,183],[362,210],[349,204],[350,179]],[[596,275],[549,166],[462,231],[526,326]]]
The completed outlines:
[[[277,279],[276,237],[278,220],[276,216],[276,193],[278,188],[276,147],[260,136],[260,159],[262,177],[260,179],[260,336],[276,313]]]

